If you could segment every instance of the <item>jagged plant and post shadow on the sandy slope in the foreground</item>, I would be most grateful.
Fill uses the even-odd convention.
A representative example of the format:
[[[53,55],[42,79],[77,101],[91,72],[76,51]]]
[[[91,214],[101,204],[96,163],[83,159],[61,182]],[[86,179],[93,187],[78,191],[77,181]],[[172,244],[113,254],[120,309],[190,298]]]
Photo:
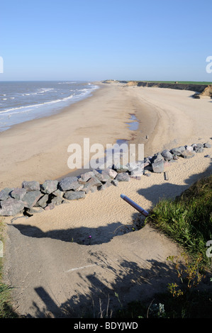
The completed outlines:
[[[143,262],[141,268],[133,261],[122,260],[116,268],[111,266],[102,252],[91,252],[91,263],[98,264],[104,269],[104,278],[101,281],[95,272],[86,276],[79,275],[80,285],[87,284],[89,290],[82,293],[74,290],[72,298],[58,306],[49,293],[39,286],[35,293],[43,302],[40,308],[33,303],[35,316],[42,317],[69,317],[69,318],[100,318],[113,317],[116,310],[129,302],[145,299],[145,304],[150,305],[154,294],[167,290],[167,284],[177,280],[172,265],[155,260]],[[113,283],[108,283],[107,274],[113,274]],[[81,289],[82,290],[82,289]],[[26,317],[31,317],[30,314]]]

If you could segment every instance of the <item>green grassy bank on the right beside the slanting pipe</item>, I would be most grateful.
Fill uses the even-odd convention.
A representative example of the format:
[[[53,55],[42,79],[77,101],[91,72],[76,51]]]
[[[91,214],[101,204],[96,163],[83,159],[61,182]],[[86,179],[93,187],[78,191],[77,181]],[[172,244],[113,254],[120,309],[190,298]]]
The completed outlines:
[[[212,240],[212,175],[199,179],[174,200],[160,201],[151,210],[147,222],[162,230],[190,254],[202,254],[203,263],[210,264],[206,242]]]

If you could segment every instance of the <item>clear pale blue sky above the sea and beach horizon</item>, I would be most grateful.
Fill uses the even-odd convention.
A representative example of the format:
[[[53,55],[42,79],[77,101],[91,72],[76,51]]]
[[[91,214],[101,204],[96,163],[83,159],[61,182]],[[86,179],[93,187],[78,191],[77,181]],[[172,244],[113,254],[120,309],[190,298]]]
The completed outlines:
[[[0,80],[212,81],[211,0],[1,0]]]

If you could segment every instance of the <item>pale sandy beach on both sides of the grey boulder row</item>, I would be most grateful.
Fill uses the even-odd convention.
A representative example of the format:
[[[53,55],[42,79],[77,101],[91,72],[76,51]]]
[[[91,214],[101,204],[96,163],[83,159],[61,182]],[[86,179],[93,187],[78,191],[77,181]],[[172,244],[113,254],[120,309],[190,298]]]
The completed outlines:
[[[60,179],[72,143],[91,145],[144,143],[145,156],[180,145],[212,142],[210,98],[194,99],[194,92],[100,84],[93,96],[51,117],[31,120],[0,133],[0,189],[20,187],[22,181]],[[130,130],[130,114],[139,121]],[[148,137],[147,137],[148,136]],[[147,138],[146,138],[147,137]],[[160,198],[174,198],[200,176],[211,174],[212,149],[192,159],[169,164],[163,174],[131,179],[84,200],[57,206],[33,217],[6,224],[5,281],[13,290],[13,305],[28,317],[72,317],[84,309],[118,305],[115,291],[126,303],[135,295],[150,298],[164,290],[174,272],[167,256],[181,249],[146,225],[130,232],[138,212],[121,200],[124,193],[145,210]],[[78,171],[77,171],[78,172]],[[79,239],[92,236],[91,245]]]

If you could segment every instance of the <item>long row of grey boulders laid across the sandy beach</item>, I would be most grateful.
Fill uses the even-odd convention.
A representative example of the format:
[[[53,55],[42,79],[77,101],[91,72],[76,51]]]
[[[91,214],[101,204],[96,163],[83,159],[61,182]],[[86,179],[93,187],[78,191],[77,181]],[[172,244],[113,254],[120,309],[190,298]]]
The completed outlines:
[[[88,193],[103,191],[110,186],[118,186],[120,181],[140,180],[141,176],[164,172],[164,166],[179,158],[192,158],[211,148],[211,143],[198,143],[164,149],[143,161],[126,165],[113,165],[109,169],[94,169],[80,176],[65,177],[61,181],[23,181],[21,188],[4,188],[0,191],[0,215],[32,216],[44,210],[52,210],[57,205],[82,200]],[[207,155],[209,156],[209,155]],[[148,172],[147,172],[148,171]]]

